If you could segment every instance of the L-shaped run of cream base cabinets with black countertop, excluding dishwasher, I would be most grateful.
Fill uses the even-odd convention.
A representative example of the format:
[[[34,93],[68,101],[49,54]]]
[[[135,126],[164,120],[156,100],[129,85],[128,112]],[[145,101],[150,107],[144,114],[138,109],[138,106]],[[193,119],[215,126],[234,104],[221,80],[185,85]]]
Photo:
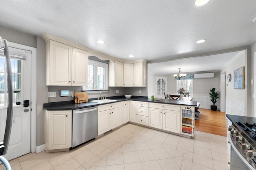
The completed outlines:
[[[116,96],[108,99],[116,101],[104,104],[90,100],[80,104],[75,104],[74,101],[44,104],[46,151],[69,150],[72,141],[72,112],[94,106],[98,106],[98,136],[130,122],[158,131],[194,137],[194,110],[197,106],[195,101],[152,101],[148,97],[139,96],[129,99]],[[56,112],[59,117],[52,117]],[[54,126],[51,125],[52,122],[55,123]],[[64,125],[65,128],[58,128],[57,125]]]

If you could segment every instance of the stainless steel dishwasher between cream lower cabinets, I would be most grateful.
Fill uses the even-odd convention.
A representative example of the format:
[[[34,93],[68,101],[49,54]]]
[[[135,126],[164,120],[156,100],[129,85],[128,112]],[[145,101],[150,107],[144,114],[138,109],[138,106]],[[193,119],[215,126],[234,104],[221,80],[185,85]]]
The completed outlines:
[[[72,114],[72,148],[98,136],[98,106],[75,109]]]

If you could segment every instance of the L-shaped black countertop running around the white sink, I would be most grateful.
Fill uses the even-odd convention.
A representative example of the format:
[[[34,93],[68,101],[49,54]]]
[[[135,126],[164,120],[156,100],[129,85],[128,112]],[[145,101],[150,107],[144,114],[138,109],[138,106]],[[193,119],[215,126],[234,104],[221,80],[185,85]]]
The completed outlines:
[[[127,99],[124,96],[116,96],[116,97],[108,97],[108,99],[114,99],[116,100],[116,102],[134,100],[134,101],[140,101],[140,102],[154,102],[154,103],[161,103],[161,104],[176,104],[176,105],[184,105],[184,106],[197,105],[197,102],[195,101],[169,100],[169,99],[162,99],[162,101],[156,101],[156,100],[152,101],[152,100],[149,100],[147,96],[146,97],[132,96],[132,98],[130,99]],[[95,100],[95,99],[89,99],[89,102],[80,103],[80,104],[75,104],[74,100],[70,100],[66,102],[52,102],[52,103],[44,104],[44,109],[45,110],[74,110],[74,109],[82,109],[85,107],[93,107],[93,106],[114,103],[114,102],[110,102],[110,103],[99,104],[95,102],[90,102],[90,100]]]

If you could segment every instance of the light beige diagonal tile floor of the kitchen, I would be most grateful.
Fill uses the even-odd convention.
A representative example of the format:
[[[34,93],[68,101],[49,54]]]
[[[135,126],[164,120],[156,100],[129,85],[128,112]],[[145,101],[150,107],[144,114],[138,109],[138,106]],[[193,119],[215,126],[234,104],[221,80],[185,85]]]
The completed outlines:
[[[13,170],[227,170],[226,141],[199,131],[188,139],[128,123],[76,149],[29,153],[10,164]]]

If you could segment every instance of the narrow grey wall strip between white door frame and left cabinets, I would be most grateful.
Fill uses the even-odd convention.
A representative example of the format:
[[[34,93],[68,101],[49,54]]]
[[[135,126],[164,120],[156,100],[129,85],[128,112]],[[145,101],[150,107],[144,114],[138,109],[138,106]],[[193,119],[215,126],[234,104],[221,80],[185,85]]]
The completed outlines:
[[[44,144],[44,108],[48,103],[48,86],[46,86],[45,42],[36,37],[36,146]]]

